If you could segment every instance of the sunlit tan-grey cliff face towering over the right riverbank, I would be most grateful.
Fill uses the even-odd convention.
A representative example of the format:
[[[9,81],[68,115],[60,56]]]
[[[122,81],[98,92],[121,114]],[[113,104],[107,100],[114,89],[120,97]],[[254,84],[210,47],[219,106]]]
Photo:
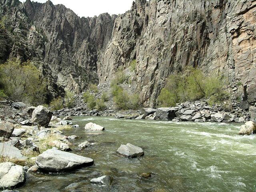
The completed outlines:
[[[99,80],[136,59],[134,91],[154,106],[168,75],[194,66],[241,80],[248,108],[256,99],[255,22],[255,0],[137,0],[116,18]]]

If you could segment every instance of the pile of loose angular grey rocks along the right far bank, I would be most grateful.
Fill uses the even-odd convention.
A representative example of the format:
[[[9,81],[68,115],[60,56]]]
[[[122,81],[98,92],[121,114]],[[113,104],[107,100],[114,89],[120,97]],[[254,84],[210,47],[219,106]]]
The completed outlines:
[[[140,119],[195,122],[246,122],[252,120],[249,112],[239,106],[230,110],[220,105],[209,106],[205,101],[185,102],[172,108],[144,108]]]

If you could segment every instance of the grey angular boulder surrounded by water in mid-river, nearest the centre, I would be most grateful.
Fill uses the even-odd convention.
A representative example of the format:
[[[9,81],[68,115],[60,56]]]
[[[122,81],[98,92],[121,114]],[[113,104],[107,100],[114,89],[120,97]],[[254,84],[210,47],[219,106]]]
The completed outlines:
[[[144,151],[142,150],[142,148],[132,145],[130,143],[126,145],[121,145],[116,153],[131,158],[136,158],[144,155]]]

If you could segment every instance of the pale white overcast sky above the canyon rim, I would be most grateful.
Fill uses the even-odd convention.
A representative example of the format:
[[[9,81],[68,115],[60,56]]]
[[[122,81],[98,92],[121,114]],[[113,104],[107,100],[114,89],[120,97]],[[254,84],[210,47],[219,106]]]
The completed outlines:
[[[25,2],[26,0],[20,0]],[[32,0],[31,0],[32,1]],[[34,0],[44,3],[47,0]],[[78,16],[93,17],[101,13],[122,14],[130,10],[133,0],[51,0],[53,4],[64,4]]]

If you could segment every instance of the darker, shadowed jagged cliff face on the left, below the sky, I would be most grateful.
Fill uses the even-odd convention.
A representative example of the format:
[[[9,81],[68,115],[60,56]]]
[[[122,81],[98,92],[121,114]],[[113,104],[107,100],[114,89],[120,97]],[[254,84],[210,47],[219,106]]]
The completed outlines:
[[[115,15],[79,18],[63,5],[30,0],[24,4],[1,0],[0,10],[14,31],[9,32],[12,42],[2,62],[9,56],[35,61],[48,81],[52,98],[64,88],[78,93],[88,83],[98,83],[96,62],[111,38]],[[24,29],[20,30],[15,21],[23,24]],[[20,33],[17,40],[16,30]]]

